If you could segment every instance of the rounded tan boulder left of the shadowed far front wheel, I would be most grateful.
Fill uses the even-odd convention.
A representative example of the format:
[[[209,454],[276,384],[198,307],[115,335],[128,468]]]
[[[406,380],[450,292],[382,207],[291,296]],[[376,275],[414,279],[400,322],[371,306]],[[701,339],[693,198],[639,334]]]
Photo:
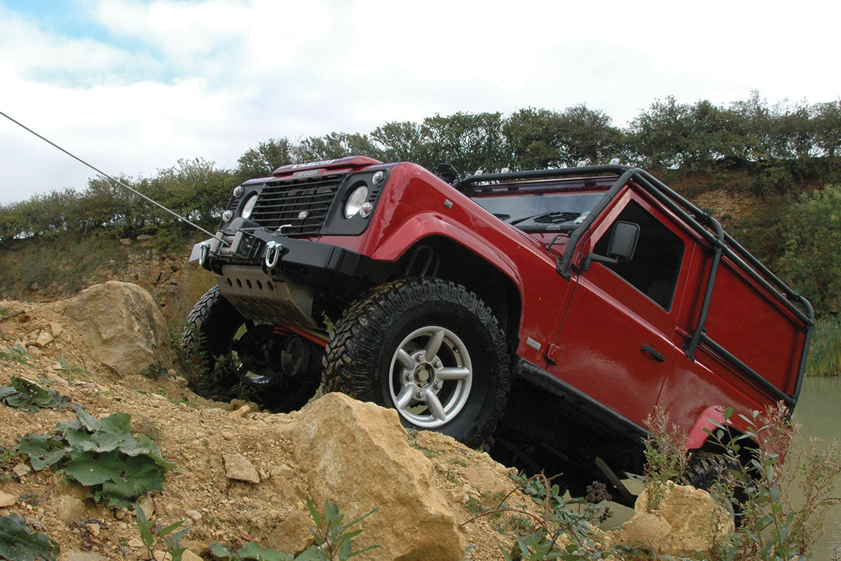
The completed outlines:
[[[136,284],[95,284],[67,300],[64,315],[82,333],[91,356],[119,374],[172,367],[167,324],[151,295]]]

